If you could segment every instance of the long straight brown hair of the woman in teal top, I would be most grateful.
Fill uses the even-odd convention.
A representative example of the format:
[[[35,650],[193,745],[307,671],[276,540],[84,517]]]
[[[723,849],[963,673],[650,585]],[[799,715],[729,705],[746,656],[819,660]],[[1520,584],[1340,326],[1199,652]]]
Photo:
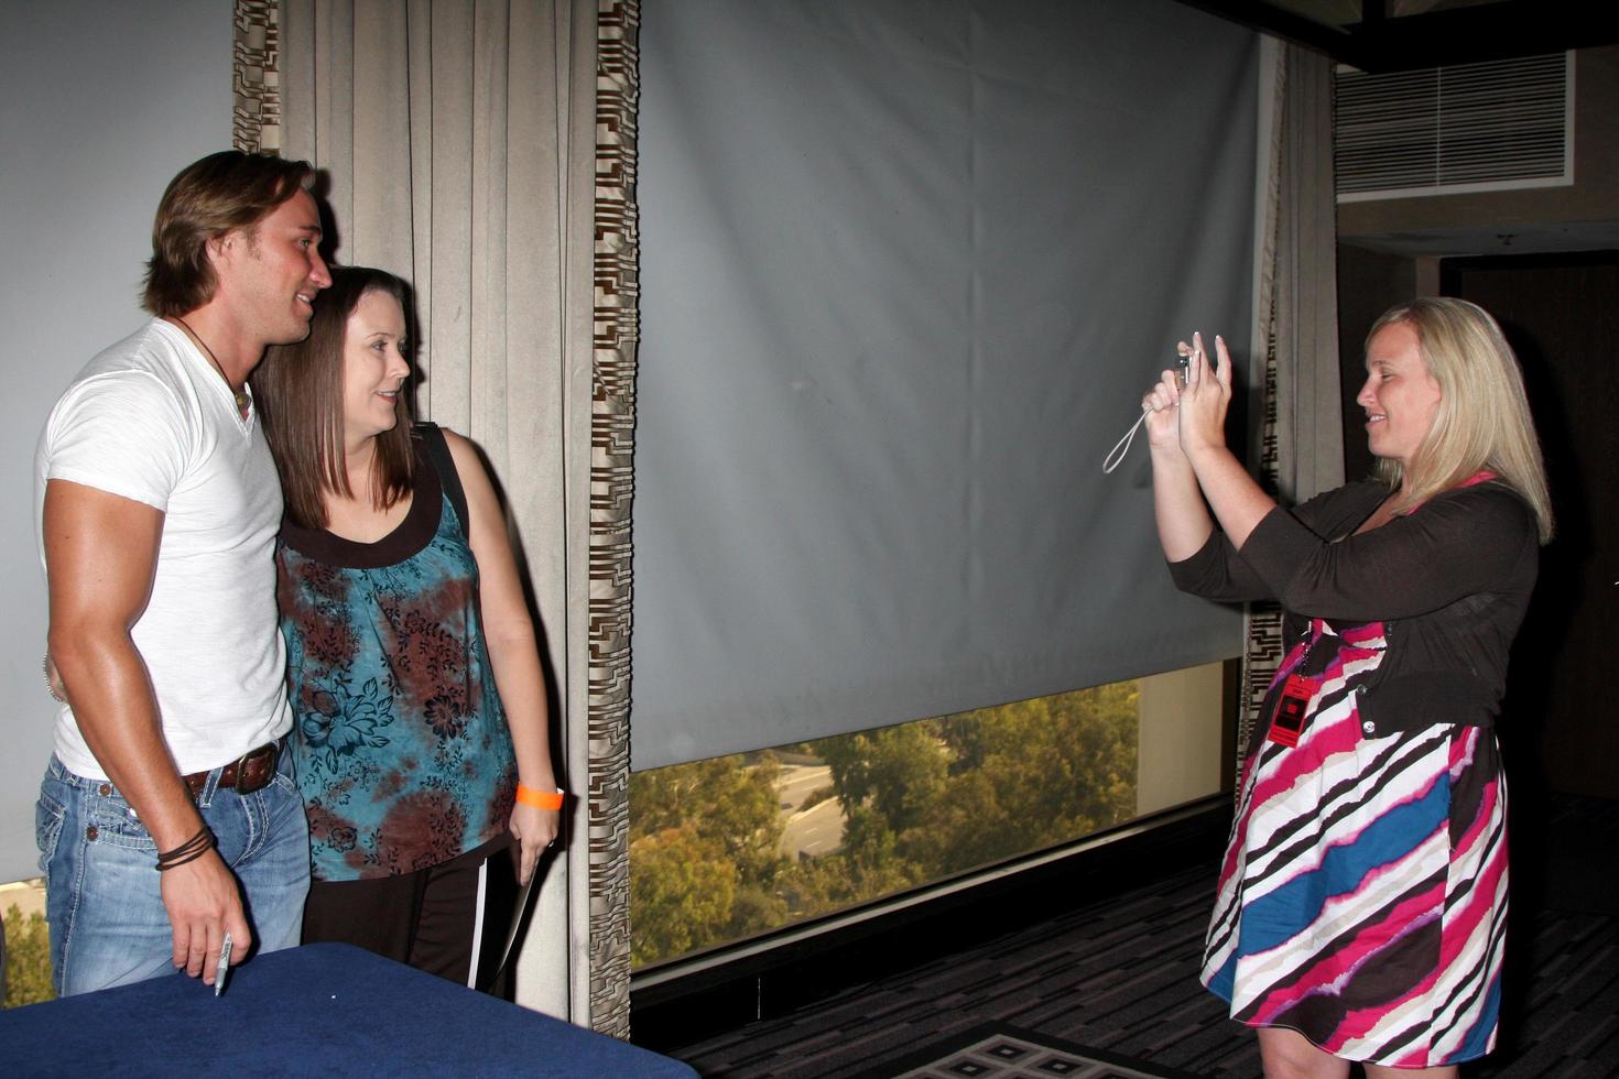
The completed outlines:
[[[343,343],[348,317],[368,293],[387,293],[410,317],[410,290],[387,270],[332,267],[332,285],[314,301],[309,336],[272,345],[253,372],[253,403],[282,474],[288,519],[325,527],[327,493],[353,498],[343,461]],[[393,401],[397,422],[377,435],[371,459],[371,505],[387,510],[411,490],[411,414],[408,385]]]

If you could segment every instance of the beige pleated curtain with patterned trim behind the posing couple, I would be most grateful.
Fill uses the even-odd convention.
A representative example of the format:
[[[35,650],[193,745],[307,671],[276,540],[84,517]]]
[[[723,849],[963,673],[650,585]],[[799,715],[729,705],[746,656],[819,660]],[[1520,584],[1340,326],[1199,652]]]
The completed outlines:
[[[628,1034],[636,0],[236,0],[236,138],[411,281],[419,411],[504,487],[576,798],[518,1001]]]

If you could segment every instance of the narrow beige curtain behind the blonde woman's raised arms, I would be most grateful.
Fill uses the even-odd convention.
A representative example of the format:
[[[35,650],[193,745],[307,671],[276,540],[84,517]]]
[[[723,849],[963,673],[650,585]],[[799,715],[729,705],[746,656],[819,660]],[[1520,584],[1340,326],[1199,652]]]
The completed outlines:
[[[1337,366],[1337,201],[1332,183],[1332,61],[1264,40],[1269,105],[1264,251],[1255,311],[1264,341],[1253,375],[1263,387],[1253,450],[1264,487],[1284,505],[1344,482],[1344,422]],[[1248,611],[1239,747],[1284,652],[1274,605]],[[1242,768],[1239,752],[1239,773]],[[1240,778],[1240,775],[1239,775]]]

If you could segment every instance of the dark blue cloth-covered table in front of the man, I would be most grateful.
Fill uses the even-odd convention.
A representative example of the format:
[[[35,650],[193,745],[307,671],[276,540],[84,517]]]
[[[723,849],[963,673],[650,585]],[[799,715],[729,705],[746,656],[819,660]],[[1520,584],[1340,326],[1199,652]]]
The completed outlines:
[[[5,1076],[696,1076],[350,945],[0,1011]]]

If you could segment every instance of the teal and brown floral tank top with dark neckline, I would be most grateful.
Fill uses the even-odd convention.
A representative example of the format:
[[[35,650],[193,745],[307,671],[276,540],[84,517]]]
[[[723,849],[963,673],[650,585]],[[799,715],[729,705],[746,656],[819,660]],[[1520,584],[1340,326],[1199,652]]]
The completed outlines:
[[[516,762],[478,563],[423,435],[444,437],[414,438],[414,497],[390,535],[358,544],[285,523],[277,544],[316,880],[427,869],[499,838],[512,815]]]

